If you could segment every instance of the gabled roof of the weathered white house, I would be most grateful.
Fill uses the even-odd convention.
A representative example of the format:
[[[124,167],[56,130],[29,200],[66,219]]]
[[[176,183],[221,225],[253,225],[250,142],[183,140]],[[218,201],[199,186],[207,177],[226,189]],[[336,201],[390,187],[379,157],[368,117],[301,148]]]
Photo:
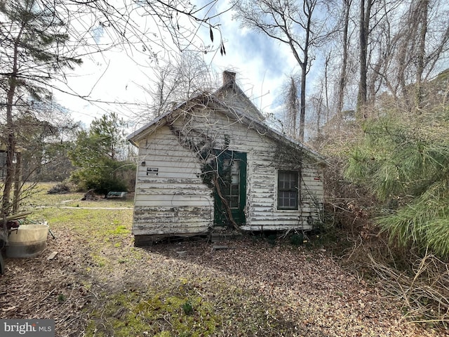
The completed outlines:
[[[231,95],[234,93],[235,95]],[[176,114],[177,112],[189,110],[189,108],[194,107],[197,103],[207,105],[214,108],[217,111],[226,114],[228,117],[236,119],[241,123],[256,130],[262,135],[266,135],[280,143],[284,143],[289,147],[293,147],[296,150],[306,151],[310,157],[319,161],[321,164],[326,164],[326,159],[321,156],[318,152],[311,150],[309,147],[300,143],[293,138],[280,133],[269,127],[263,121],[263,115],[260,111],[253,105],[248,96],[243,93],[241,88],[234,81],[228,81],[221,88],[219,88],[215,93],[202,93],[196,95],[194,98],[182,102],[175,107],[173,110],[162,114],[153,121],[150,121],[147,125],[142,126],[137,131],[131,133],[126,139],[133,143],[133,145],[138,146],[138,140],[145,138],[149,133],[156,131],[161,126],[167,124],[167,118],[171,114]]]

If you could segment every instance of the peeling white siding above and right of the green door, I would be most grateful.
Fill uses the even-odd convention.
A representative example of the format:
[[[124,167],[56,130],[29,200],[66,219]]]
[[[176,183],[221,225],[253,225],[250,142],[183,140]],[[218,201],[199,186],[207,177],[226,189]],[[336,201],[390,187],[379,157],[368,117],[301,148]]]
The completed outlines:
[[[288,228],[310,229],[314,220],[320,220],[323,202],[323,175],[314,159],[302,155],[270,138],[255,126],[247,126],[220,112],[206,110],[205,117],[195,114],[187,124],[177,119],[175,127],[185,134],[189,130],[203,130],[200,135],[192,132],[192,139],[201,141],[204,133],[213,139],[213,147],[246,152],[247,200],[244,230],[281,230]],[[228,144],[229,143],[229,144]],[[227,147],[226,147],[227,146]],[[301,164],[302,163],[302,164]],[[301,167],[302,166],[302,167]],[[277,171],[302,169],[298,210],[277,209]]]

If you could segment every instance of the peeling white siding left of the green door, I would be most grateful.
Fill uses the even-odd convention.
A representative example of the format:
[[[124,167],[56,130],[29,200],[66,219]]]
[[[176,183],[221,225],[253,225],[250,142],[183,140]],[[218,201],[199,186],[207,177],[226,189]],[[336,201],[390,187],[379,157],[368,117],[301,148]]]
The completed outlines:
[[[213,223],[211,190],[199,178],[199,160],[168,126],[140,141],[138,164],[133,234],[208,232]]]

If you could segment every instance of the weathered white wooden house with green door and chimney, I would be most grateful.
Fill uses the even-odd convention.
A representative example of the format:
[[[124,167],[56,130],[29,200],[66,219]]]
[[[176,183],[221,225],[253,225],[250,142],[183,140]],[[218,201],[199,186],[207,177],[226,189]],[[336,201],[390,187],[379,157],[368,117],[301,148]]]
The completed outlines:
[[[128,136],[139,156],[136,246],[215,226],[310,230],[321,220],[323,157],[264,124],[235,73],[223,79]]]

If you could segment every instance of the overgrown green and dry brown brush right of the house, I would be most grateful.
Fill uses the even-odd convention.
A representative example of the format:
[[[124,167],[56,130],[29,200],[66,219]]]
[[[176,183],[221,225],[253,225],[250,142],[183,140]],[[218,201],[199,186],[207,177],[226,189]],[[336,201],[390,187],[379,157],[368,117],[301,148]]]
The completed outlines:
[[[352,243],[343,261],[400,299],[408,319],[439,324],[449,312],[448,115],[439,104],[384,105],[347,122],[327,182],[328,209]]]

